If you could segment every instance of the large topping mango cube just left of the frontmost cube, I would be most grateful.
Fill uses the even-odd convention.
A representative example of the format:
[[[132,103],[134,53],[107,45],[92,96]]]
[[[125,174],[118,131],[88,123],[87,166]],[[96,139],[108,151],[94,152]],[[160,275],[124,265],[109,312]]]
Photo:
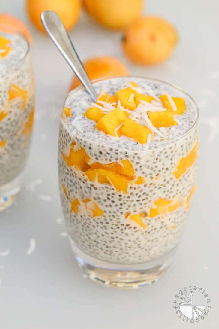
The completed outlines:
[[[125,114],[120,108],[117,108],[105,114],[97,123],[96,128],[104,131],[105,134],[117,136],[115,129],[125,120]]]

